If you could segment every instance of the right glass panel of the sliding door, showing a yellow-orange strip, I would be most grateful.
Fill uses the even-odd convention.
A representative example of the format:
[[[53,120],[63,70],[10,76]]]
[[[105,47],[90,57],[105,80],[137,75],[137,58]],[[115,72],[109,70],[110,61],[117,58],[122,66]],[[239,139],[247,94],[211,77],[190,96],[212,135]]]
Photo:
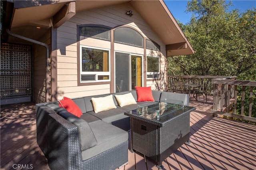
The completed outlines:
[[[132,55],[131,56],[131,81],[132,89],[135,86],[142,86],[142,57]]]

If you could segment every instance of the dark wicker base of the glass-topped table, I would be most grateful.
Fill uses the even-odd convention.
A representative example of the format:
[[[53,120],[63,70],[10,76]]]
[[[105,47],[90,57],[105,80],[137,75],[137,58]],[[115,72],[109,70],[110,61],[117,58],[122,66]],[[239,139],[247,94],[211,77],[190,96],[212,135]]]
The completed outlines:
[[[177,150],[190,137],[190,111],[166,121],[162,126],[150,120],[131,117],[131,152],[148,156],[162,169],[162,161]]]

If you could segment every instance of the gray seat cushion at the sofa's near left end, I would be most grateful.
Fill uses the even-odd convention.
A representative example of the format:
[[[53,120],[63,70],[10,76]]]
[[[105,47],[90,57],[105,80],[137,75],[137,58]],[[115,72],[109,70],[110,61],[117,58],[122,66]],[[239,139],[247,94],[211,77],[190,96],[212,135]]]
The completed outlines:
[[[82,151],[82,160],[87,160],[128,140],[128,132],[103,121],[90,124],[98,144]]]

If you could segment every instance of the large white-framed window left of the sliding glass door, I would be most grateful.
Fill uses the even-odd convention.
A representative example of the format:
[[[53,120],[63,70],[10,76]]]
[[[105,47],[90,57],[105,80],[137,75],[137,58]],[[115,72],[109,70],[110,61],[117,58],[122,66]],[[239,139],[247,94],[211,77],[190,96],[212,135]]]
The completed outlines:
[[[81,82],[110,80],[109,49],[81,46]]]

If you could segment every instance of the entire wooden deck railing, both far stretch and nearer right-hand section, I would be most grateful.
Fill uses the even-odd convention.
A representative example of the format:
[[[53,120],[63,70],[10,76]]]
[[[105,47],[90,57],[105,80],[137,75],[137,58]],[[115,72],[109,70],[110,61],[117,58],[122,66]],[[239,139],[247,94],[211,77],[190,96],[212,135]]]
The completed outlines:
[[[212,113],[214,116],[236,117],[256,122],[256,113],[252,113],[252,107],[256,105],[253,103],[253,96],[256,95],[253,91],[256,89],[256,81],[236,80],[236,77],[231,76],[171,75],[168,76],[168,91],[186,93],[184,89],[186,83],[198,84],[202,87],[202,91],[208,95],[213,95]],[[242,89],[241,95],[238,95],[238,88]],[[250,89],[248,94],[246,88]],[[248,97],[249,111],[245,111],[244,108],[248,107],[245,102]],[[237,108],[238,103],[241,103],[241,108]]]

